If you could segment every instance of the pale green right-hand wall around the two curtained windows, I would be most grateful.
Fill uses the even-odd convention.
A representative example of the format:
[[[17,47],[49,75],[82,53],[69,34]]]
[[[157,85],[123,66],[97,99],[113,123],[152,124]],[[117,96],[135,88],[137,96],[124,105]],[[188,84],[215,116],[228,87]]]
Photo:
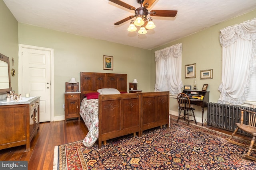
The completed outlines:
[[[242,16],[238,16],[228,21],[224,21],[200,32],[194,33],[182,39],[170,42],[151,50],[151,90],[154,90],[155,85],[155,55],[154,52],[172,45],[182,43],[182,82],[183,85],[193,86],[195,78],[185,78],[185,65],[196,63],[196,85],[198,90],[202,90],[203,84],[208,84],[207,91],[210,91],[210,102],[218,102],[220,92],[218,87],[221,82],[221,52],[219,35],[220,30],[231,26],[240,24],[247,20],[252,20],[256,16],[256,10],[253,10]],[[196,24],[196,23],[195,23]],[[213,69],[213,78],[200,80],[200,70]],[[183,88],[182,88],[183,90]],[[178,103],[174,96],[170,97],[170,113],[178,114]],[[196,117],[202,117],[201,108],[195,106]],[[204,118],[207,118],[207,108],[204,109]],[[197,119],[201,122],[200,119]]]

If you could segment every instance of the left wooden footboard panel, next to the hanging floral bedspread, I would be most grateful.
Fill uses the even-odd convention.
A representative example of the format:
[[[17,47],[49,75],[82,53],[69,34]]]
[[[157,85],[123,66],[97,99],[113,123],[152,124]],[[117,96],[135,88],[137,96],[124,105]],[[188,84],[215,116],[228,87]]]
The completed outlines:
[[[99,95],[99,149],[108,139],[132,133],[141,137],[140,118],[141,93]]]

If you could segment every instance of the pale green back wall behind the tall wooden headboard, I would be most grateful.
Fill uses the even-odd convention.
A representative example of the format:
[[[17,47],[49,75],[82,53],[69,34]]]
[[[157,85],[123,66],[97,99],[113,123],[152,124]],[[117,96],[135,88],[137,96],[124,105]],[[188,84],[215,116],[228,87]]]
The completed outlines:
[[[54,49],[54,116],[64,115],[65,82],[80,72],[128,74],[138,89],[150,91],[150,51],[42,27],[18,24],[19,43]],[[113,56],[114,70],[103,70],[103,55]]]

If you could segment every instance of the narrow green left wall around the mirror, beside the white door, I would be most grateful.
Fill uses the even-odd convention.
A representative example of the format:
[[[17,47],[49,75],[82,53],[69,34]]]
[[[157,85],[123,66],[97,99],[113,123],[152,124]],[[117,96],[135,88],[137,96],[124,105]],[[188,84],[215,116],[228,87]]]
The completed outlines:
[[[14,68],[18,71],[18,21],[14,18],[5,3],[0,0],[0,53],[9,57],[10,70]],[[12,66],[12,58],[14,66]],[[18,90],[18,74],[11,76],[13,89]],[[0,99],[6,95],[0,95]]]

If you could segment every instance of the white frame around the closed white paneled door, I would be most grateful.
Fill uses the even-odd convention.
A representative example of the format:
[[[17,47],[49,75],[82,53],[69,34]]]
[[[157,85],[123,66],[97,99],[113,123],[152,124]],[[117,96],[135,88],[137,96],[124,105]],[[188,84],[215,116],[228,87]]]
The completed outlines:
[[[44,47],[37,47],[32,45],[24,45],[19,44],[19,52],[18,52],[18,91],[22,91],[22,78],[23,78],[23,72],[22,72],[22,49],[36,49],[36,50],[42,50],[42,51],[50,51],[50,121],[54,121],[54,53],[53,49],[50,48],[44,48]]]

